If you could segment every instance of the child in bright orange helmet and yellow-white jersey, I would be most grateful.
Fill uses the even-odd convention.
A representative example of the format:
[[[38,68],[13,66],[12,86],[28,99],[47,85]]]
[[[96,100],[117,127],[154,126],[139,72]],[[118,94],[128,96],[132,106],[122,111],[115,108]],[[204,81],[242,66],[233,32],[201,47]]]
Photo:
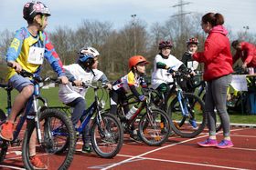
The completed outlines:
[[[127,101],[126,94],[132,92],[140,101],[145,100],[145,96],[141,95],[136,88],[140,85],[146,87],[144,81],[145,65],[149,62],[146,61],[142,55],[134,55],[129,59],[130,72],[127,75],[122,76],[112,84],[112,90],[110,91],[111,109],[110,113],[116,115],[117,105]],[[124,108],[127,114],[129,108]]]

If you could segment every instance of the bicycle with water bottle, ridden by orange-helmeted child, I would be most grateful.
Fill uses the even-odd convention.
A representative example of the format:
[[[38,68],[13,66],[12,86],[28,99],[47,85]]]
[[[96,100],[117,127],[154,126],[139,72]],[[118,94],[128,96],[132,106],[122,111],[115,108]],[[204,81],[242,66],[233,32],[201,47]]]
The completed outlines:
[[[146,100],[143,102],[139,101],[133,94],[127,95],[127,102],[118,104],[117,117],[123,125],[125,134],[133,137],[135,126],[138,126],[138,130],[135,131],[144,144],[163,145],[171,130],[169,117],[164,111],[152,105],[152,89],[144,89],[143,92],[146,96]],[[125,117],[127,108],[132,105],[138,105],[139,107],[131,118],[127,119]],[[107,110],[107,112],[110,112],[110,110]],[[138,125],[137,120],[139,121]]]

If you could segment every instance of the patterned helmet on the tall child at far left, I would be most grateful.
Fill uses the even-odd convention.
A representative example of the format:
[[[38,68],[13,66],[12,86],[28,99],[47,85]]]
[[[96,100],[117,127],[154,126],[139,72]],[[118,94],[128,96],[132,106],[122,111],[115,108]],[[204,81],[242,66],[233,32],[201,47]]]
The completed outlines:
[[[32,20],[38,14],[50,15],[49,9],[41,2],[27,3],[23,7],[23,18],[26,20]]]

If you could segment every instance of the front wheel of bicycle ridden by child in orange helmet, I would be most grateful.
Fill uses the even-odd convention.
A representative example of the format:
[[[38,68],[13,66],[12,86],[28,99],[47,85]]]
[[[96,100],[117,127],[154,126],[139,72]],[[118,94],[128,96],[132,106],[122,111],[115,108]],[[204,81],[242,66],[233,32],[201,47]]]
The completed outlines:
[[[150,109],[139,123],[139,135],[146,145],[163,145],[170,134],[169,117],[160,109]]]

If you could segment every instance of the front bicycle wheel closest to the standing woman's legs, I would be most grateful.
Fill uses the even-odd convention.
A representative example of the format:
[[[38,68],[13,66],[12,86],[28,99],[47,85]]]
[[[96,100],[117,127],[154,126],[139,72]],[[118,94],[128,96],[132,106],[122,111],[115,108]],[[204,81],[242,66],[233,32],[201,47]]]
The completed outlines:
[[[192,138],[199,135],[206,126],[205,105],[197,95],[191,93],[183,94],[183,104],[183,108],[187,107],[188,115],[182,113],[177,97],[169,105],[170,124],[176,135]]]

